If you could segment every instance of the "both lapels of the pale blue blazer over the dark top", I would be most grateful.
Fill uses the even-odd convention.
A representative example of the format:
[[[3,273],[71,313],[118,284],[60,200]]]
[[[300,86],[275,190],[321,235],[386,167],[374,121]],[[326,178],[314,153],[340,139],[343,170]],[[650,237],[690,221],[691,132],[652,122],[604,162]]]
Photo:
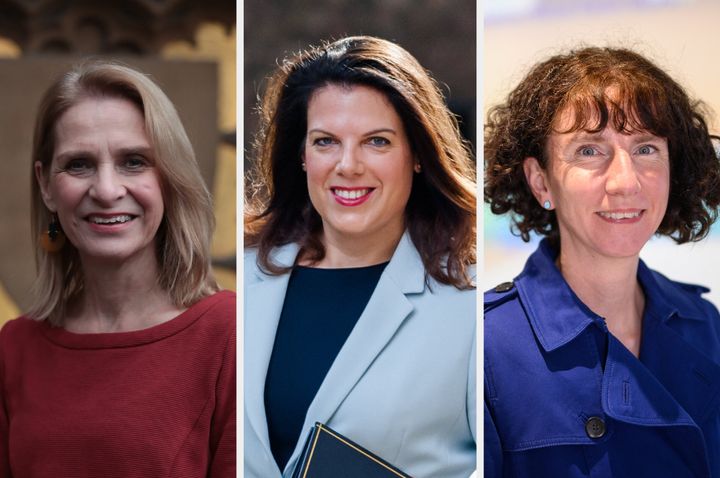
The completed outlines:
[[[290,266],[294,264],[298,251],[297,244],[288,244],[274,251],[272,258],[276,264]],[[245,409],[250,425],[268,455],[272,456],[263,396],[290,274],[268,275],[257,265],[253,265],[252,270],[253,279],[257,282],[248,284],[245,292]],[[330,421],[345,397],[413,311],[407,296],[422,293],[425,287],[425,268],[406,232],[311,402],[302,435],[286,470],[295,466],[305,433],[316,421]]]

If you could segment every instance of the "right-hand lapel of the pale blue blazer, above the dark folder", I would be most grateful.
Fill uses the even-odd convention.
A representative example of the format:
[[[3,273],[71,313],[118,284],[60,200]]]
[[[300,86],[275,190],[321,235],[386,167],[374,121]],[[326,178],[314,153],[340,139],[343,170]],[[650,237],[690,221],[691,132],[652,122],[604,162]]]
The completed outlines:
[[[292,470],[295,466],[306,432],[316,421],[330,421],[345,397],[413,311],[407,295],[422,293],[424,290],[425,268],[409,235],[405,233],[365,310],[310,404],[303,433],[286,470]]]

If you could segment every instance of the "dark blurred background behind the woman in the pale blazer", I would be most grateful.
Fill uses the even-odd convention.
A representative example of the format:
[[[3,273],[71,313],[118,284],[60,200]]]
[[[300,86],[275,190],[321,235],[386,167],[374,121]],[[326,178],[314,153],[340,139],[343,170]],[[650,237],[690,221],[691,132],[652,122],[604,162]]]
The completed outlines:
[[[475,0],[245,0],[244,16],[245,169],[265,79],[286,56],[349,35],[379,36],[408,50],[440,83],[465,138],[475,141]]]

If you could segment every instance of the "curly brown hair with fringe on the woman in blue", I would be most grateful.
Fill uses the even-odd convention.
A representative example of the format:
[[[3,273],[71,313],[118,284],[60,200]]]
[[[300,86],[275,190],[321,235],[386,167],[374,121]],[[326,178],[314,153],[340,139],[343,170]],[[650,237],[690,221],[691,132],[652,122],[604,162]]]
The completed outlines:
[[[570,109],[575,121],[556,131]],[[532,195],[525,158],[546,169],[553,132],[647,131],[667,139],[670,196],[657,234],[681,244],[705,237],[720,205],[720,161],[708,131],[707,107],[691,100],[667,73],[638,53],[587,47],[535,65],[507,100],[490,109],[485,125],[485,202],[495,214],[510,212],[513,232],[559,240],[557,218]]]

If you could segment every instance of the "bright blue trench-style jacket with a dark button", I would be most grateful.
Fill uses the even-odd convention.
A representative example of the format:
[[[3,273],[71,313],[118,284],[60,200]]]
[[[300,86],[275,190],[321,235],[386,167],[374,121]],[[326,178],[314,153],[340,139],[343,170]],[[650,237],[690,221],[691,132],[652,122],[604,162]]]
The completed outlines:
[[[485,294],[485,476],[720,477],[720,316],[640,261],[640,358],[547,241]],[[591,273],[591,271],[589,272]]]

